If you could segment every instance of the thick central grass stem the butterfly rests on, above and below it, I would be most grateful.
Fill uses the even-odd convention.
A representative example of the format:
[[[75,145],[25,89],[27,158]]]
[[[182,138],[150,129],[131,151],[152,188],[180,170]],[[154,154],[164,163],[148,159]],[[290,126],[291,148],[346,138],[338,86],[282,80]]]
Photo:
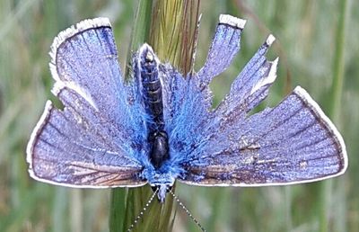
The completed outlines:
[[[195,31],[197,25],[198,0],[140,1],[136,13],[130,52],[127,54],[127,67],[132,52],[144,42],[150,43],[158,57],[184,70],[192,67]],[[196,18],[195,18],[196,17]],[[194,19],[195,18],[195,19]],[[151,31],[151,39],[149,34]],[[188,59],[184,57],[189,57]],[[185,62],[181,62],[184,60]],[[126,77],[130,78],[130,70]],[[152,190],[149,186],[141,188],[112,190],[109,228],[110,231],[124,231],[134,223],[139,212],[149,200]],[[175,216],[172,198],[162,204],[153,201],[146,210],[144,218],[135,226],[134,231],[171,231]]]

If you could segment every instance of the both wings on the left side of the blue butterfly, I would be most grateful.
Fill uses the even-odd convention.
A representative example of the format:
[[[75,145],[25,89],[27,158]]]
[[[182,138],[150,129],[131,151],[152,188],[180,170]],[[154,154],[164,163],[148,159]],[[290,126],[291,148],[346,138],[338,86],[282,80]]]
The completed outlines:
[[[52,92],[64,109],[48,101],[31,134],[31,176],[74,187],[144,184],[141,119],[131,117],[136,107],[127,103],[109,21],[87,20],[60,32],[50,55]]]

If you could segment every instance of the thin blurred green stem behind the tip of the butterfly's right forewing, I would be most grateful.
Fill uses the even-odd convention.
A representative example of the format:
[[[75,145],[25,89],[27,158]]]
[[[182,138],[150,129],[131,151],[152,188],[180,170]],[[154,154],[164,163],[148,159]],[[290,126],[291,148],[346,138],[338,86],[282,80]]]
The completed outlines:
[[[345,39],[346,39],[346,21],[347,15],[349,14],[349,9],[347,7],[348,3],[346,0],[339,1],[339,20],[337,23],[337,34],[336,34],[336,50],[334,53],[334,66],[333,66],[333,85],[331,86],[331,101],[328,106],[328,115],[329,117],[337,121],[339,119],[339,110],[340,102],[343,91],[344,83],[344,70],[345,70]],[[321,184],[321,197],[320,197],[320,231],[325,232],[329,231],[329,217],[328,213],[330,209],[330,199],[332,197],[332,180],[328,180]],[[341,188],[344,191],[344,188]],[[343,194],[341,194],[343,195]],[[344,200],[344,199],[342,199]],[[340,202],[340,204],[343,202]],[[344,231],[344,230],[343,230]]]

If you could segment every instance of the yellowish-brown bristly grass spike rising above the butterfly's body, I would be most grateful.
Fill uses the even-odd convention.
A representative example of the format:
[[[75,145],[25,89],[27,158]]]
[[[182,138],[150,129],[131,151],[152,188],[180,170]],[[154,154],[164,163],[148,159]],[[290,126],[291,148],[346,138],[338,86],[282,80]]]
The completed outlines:
[[[151,45],[162,61],[184,75],[193,65],[199,4],[199,0],[155,1]]]

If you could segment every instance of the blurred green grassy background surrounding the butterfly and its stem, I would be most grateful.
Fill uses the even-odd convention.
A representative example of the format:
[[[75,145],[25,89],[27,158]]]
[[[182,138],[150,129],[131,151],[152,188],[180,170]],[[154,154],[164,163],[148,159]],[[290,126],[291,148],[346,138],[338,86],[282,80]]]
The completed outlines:
[[[178,184],[180,199],[209,231],[358,231],[359,4],[347,1],[346,11],[341,11],[342,3],[201,2],[197,70],[204,63],[220,13],[248,20],[239,56],[212,85],[215,103],[267,34],[273,33],[277,41],[268,58],[280,57],[279,73],[266,104],[276,105],[295,85],[302,85],[334,117],[349,156],[346,174],[325,181],[324,187],[322,183],[263,188]],[[124,68],[136,4],[131,0],[0,0],[0,231],[109,230],[109,190],[74,190],[31,180],[25,147],[45,101],[54,99],[48,50],[57,33],[85,18],[109,17]],[[339,24],[341,17],[346,18],[345,26]],[[337,40],[340,30],[345,30],[343,40]],[[334,97],[340,102],[333,104],[337,87],[332,86],[333,80],[340,74],[345,78],[342,93]],[[327,215],[327,228],[320,226],[320,215]],[[179,209],[173,231],[198,228]]]

